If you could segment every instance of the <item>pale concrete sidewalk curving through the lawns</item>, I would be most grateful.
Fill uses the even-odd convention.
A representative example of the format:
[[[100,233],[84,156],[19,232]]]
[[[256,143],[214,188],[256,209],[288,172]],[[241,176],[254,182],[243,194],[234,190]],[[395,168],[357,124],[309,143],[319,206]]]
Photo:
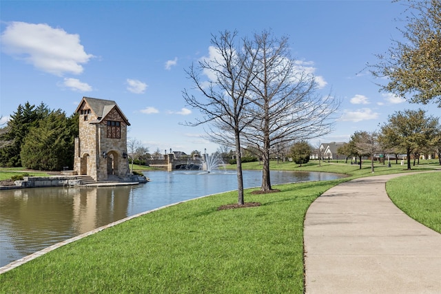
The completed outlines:
[[[441,234],[409,218],[386,193],[387,180],[407,175],[351,180],[311,204],[306,293],[441,293]]]

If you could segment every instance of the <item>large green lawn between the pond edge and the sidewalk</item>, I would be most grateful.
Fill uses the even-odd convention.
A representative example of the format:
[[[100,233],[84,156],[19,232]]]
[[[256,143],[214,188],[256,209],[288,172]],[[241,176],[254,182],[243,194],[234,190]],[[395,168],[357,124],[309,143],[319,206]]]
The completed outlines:
[[[148,213],[0,275],[1,293],[302,293],[303,219],[342,182],[278,185],[260,207],[237,193]]]

